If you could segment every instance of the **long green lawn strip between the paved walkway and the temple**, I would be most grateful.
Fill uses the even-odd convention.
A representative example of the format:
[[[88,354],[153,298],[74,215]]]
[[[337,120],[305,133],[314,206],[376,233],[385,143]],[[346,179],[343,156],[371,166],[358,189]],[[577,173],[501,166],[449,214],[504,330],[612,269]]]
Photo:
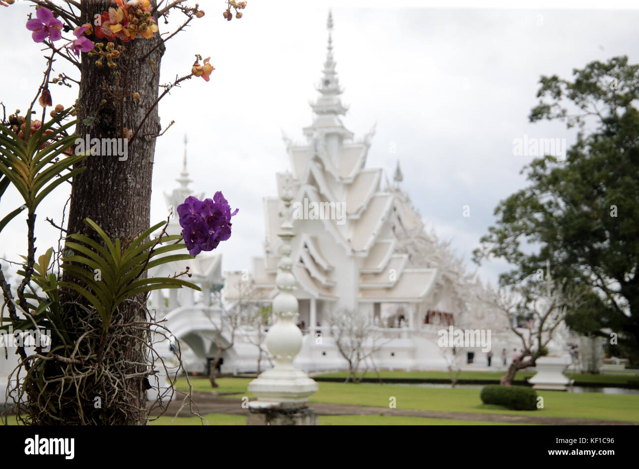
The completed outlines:
[[[246,392],[250,378],[220,378],[218,392],[238,392],[233,396],[253,397]],[[185,389],[186,381],[178,380],[178,389]],[[211,391],[206,379],[192,379],[194,390]],[[310,402],[357,404],[386,407],[391,397],[396,398],[397,408],[448,412],[503,413],[545,417],[575,417],[639,421],[639,394],[603,394],[601,392],[571,393],[537,391],[544,398],[544,408],[531,411],[507,410],[484,405],[479,398],[481,389],[449,387],[411,387],[392,384],[352,384],[318,382],[319,391]],[[393,417],[397,418],[397,417]]]

